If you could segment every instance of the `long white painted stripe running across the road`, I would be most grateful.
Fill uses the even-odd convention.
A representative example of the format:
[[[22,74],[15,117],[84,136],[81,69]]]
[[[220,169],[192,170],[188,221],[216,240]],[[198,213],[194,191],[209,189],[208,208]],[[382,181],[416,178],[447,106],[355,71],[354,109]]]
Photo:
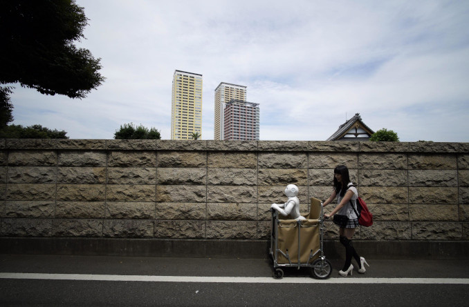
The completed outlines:
[[[311,277],[201,277],[201,276],[149,276],[149,275],[94,275],[94,274],[45,274],[0,273],[0,279],[53,279],[84,281],[152,281],[152,282],[203,282],[203,283],[252,283],[252,284],[469,284],[466,278],[367,278],[347,277],[313,279]]]

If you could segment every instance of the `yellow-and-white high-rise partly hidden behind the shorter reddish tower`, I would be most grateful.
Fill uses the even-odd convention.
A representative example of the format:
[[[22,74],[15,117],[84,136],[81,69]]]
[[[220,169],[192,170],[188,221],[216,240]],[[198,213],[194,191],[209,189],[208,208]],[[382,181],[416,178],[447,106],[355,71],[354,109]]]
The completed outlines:
[[[215,123],[214,139],[223,139],[223,103],[228,103],[231,99],[246,101],[246,86],[221,82],[215,89]]]

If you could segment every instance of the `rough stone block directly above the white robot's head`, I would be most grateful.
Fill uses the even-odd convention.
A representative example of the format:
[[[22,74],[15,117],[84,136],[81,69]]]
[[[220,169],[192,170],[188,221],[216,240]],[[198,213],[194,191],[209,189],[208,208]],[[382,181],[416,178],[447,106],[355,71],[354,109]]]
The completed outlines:
[[[306,169],[259,168],[257,184],[259,186],[308,186]]]

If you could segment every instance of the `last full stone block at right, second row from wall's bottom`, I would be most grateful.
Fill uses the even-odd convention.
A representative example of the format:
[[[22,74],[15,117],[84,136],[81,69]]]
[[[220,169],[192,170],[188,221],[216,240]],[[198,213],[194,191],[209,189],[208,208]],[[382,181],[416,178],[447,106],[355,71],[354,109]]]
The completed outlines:
[[[458,221],[457,205],[409,205],[411,221]]]

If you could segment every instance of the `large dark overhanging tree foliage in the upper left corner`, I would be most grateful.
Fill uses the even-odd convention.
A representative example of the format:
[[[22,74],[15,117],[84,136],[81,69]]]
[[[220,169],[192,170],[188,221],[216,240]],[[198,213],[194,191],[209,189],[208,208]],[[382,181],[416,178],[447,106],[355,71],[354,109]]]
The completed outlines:
[[[73,45],[84,38],[88,20],[75,0],[1,1],[0,84],[86,97],[105,79],[100,59]]]

